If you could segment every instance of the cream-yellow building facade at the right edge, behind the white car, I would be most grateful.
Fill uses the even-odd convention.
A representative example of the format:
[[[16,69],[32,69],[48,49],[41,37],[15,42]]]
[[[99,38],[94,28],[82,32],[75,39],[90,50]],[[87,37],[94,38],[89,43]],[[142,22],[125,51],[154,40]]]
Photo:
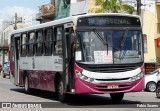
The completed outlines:
[[[142,2],[143,34],[146,35],[144,62],[146,73],[160,67],[160,0]]]

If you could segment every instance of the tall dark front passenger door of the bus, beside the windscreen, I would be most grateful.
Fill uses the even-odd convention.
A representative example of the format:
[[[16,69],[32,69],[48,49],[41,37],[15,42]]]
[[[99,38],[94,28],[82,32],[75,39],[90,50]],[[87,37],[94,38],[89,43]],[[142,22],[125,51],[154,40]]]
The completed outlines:
[[[71,58],[71,33],[73,29],[65,27],[63,39],[63,70],[64,70],[64,89],[73,92],[73,61]]]

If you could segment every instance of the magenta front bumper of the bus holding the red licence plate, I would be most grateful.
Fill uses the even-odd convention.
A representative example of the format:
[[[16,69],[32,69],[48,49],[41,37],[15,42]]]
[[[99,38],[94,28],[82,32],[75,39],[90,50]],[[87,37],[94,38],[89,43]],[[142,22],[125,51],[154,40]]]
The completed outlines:
[[[144,90],[144,77],[133,82],[93,84],[80,78],[75,78],[76,94],[109,94],[140,92]]]

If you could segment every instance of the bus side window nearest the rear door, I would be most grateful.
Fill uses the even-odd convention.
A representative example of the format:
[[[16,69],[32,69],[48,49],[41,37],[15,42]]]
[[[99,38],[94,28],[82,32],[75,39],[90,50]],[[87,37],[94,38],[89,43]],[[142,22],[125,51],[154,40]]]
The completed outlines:
[[[27,54],[27,47],[26,47],[26,41],[27,40],[27,34],[22,34],[21,38],[21,56],[26,56]]]

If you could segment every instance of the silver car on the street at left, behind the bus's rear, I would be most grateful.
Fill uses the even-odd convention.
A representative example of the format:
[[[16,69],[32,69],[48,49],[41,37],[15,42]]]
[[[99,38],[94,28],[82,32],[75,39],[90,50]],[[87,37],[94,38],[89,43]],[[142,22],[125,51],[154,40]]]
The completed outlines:
[[[3,64],[2,77],[10,76],[10,62],[5,62]]]

